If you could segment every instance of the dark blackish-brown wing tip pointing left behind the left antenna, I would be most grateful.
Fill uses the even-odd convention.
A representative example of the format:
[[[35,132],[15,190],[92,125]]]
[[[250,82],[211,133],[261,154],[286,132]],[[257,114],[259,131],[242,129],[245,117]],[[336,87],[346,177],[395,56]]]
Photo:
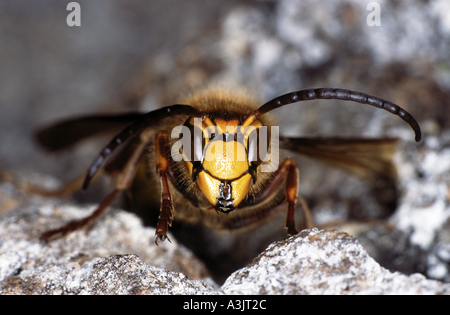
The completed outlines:
[[[138,120],[143,113],[94,115],[69,119],[38,130],[37,141],[50,151],[70,147],[78,141],[101,132],[118,131]]]

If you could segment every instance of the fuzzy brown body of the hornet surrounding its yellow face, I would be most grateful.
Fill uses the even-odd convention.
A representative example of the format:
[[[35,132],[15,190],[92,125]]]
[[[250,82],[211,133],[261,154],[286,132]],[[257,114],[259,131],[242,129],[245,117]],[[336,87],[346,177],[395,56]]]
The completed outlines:
[[[249,112],[256,110],[258,105],[255,100],[245,95],[236,95],[224,93],[216,90],[206,90],[204,92],[193,94],[182,100],[182,103],[195,104],[193,107],[201,112],[209,113],[209,117],[213,121],[233,121],[238,120],[242,124]],[[227,116],[228,120],[224,120]],[[261,122],[270,127],[272,119],[266,117],[261,118]],[[149,222],[156,224],[155,220],[160,211],[161,193],[158,189],[160,184],[160,176],[155,172],[158,155],[164,155],[168,164],[168,182],[170,185],[171,198],[173,200],[174,219],[189,224],[206,225],[217,232],[235,231],[242,232],[257,228],[271,220],[273,216],[279,215],[280,210],[287,208],[285,202],[286,197],[286,174],[287,168],[291,163],[295,163],[288,159],[284,167],[277,172],[260,173],[257,181],[250,187],[245,199],[239,206],[229,213],[217,212],[205,194],[201,191],[198,184],[193,181],[189,173],[187,162],[175,162],[170,155],[170,150],[178,138],[167,138],[171,134],[174,126],[183,125],[188,118],[187,115],[180,115],[174,118],[168,118],[164,125],[154,128],[153,135],[156,137],[158,133],[166,135],[165,145],[161,147],[163,152],[157,152],[155,146],[156,140],[149,141],[145,156],[140,160],[138,170],[129,187],[127,194],[131,208],[133,211],[140,213],[141,217],[150,218]],[[136,144],[130,144],[130,152]],[[127,150],[124,150],[127,151]],[[129,153],[119,155],[120,159],[112,160],[106,166],[108,173],[113,174],[122,165],[118,162],[126,162],[129,159]],[[280,152],[280,161],[286,161],[286,156]],[[281,163],[280,163],[281,164]],[[295,191],[297,191],[298,180],[295,180]],[[156,189],[155,189],[156,188]],[[293,194],[296,197],[296,193]],[[284,207],[277,207],[284,203]],[[302,226],[302,225],[301,225]],[[303,224],[303,226],[306,226]]]

